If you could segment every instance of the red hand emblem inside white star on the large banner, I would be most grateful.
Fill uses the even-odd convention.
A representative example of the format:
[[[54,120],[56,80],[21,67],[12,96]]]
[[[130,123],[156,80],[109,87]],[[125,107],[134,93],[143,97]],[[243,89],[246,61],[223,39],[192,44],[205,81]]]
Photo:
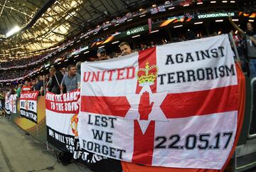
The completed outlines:
[[[149,92],[142,93],[139,101],[139,120],[148,120],[149,113],[151,113],[154,102],[149,104]]]

